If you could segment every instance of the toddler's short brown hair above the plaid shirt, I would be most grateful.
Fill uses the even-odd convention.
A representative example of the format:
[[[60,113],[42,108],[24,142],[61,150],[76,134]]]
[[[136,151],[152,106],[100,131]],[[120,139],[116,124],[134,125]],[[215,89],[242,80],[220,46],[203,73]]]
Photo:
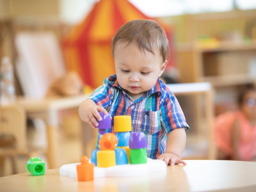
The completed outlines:
[[[159,50],[163,61],[169,60],[169,44],[164,29],[154,20],[131,20],[122,25],[111,42],[112,56],[115,57],[115,47],[120,41],[135,42],[140,51],[147,50],[152,54]],[[127,45],[128,45],[127,44]]]

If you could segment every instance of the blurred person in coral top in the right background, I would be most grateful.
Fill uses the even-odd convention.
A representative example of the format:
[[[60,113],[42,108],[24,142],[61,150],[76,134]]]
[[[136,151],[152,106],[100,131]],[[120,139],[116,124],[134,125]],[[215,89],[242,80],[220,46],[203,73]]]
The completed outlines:
[[[218,115],[214,122],[218,159],[250,161],[256,152],[256,88],[238,99],[239,109]]]

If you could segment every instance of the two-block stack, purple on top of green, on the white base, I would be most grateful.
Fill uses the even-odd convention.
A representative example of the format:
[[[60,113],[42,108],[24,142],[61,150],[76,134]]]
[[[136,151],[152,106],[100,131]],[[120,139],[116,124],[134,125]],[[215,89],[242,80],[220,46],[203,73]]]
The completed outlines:
[[[129,147],[130,164],[147,163],[147,141],[143,132],[131,133]]]

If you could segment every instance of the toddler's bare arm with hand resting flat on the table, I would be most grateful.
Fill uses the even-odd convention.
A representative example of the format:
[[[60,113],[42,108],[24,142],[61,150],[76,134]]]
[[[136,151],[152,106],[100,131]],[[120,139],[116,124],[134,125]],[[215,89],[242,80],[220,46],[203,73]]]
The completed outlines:
[[[185,161],[181,160],[182,153],[186,145],[186,132],[185,128],[177,128],[171,131],[167,135],[166,150],[165,153],[160,155],[157,159],[165,161],[166,165],[182,163],[186,164]]]

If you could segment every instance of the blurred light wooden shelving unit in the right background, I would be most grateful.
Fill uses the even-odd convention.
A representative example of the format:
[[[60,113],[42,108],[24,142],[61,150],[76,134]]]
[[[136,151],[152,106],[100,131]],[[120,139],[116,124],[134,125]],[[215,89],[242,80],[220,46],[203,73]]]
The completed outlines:
[[[213,85],[219,114],[237,107],[241,87],[256,83],[256,41],[179,44],[176,63],[181,83]]]

